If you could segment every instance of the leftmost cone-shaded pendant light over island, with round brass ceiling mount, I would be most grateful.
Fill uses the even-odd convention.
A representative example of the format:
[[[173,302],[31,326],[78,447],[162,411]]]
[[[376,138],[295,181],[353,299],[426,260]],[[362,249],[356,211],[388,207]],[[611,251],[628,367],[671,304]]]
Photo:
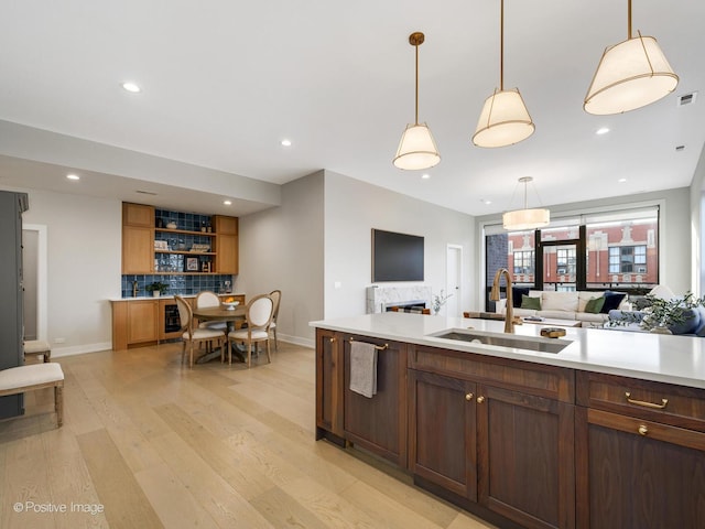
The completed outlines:
[[[423,44],[423,41],[424,34],[421,32],[409,35],[409,43],[416,50],[415,120],[414,125],[406,126],[401,136],[399,149],[397,149],[397,155],[392,162],[394,166],[405,170],[430,169],[441,161],[441,154],[438,154],[438,148],[433,140],[431,130],[426,123],[419,122],[419,46]]]

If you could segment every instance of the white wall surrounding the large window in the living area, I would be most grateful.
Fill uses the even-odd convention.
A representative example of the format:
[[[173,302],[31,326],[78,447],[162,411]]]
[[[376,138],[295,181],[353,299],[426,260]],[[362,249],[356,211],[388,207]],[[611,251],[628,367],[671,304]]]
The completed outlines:
[[[620,210],[636,205],[661,205],[659,255],[660,283],[666,284],[676,293],[692,289],[691,284],[691,197],[690,188],[666,190],[653,193],[640,193],[618,196],[600,201],[573,202],[550,206],[552,217],[568,216],[597,210]],[[501,224],[501,215],[477,217],[477,236],[481,240],[482,224],[495,222]],[[484,284],[484,264],[476,261],[479,284]]]

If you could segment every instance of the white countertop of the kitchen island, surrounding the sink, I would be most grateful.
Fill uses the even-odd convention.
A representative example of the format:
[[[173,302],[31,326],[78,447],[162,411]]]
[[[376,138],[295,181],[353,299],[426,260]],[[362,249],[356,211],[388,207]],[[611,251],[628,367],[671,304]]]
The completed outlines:
[[[621,375],[705,389],[705,338],[627,331],[563,327],[562,352],[536,353],[429,336],[444,330],[502,333],[505,322],[387,312],[311,322],[311,326],[487,356]],[[514,326],[514,335],[541,337],[542,325]],[[544,338],[551,339],[551,338]]]

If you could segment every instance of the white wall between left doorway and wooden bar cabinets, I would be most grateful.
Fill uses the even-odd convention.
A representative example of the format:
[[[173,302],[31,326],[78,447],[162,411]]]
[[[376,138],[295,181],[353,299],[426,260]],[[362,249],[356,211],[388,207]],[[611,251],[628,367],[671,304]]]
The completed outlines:
[[[24,224],[46,226],[52,356],[111,347],[109,298],[120,296],[121,203],[34,190]],[[57,339],[64,339],[57,343]]]

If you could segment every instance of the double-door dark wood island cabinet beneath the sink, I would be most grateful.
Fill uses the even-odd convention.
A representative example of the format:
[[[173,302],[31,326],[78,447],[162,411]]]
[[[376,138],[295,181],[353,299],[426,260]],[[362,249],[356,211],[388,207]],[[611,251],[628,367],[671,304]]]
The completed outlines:
[[[430,347],[410,364],[415,476],[520,527],[575,527],[570,370]]]

